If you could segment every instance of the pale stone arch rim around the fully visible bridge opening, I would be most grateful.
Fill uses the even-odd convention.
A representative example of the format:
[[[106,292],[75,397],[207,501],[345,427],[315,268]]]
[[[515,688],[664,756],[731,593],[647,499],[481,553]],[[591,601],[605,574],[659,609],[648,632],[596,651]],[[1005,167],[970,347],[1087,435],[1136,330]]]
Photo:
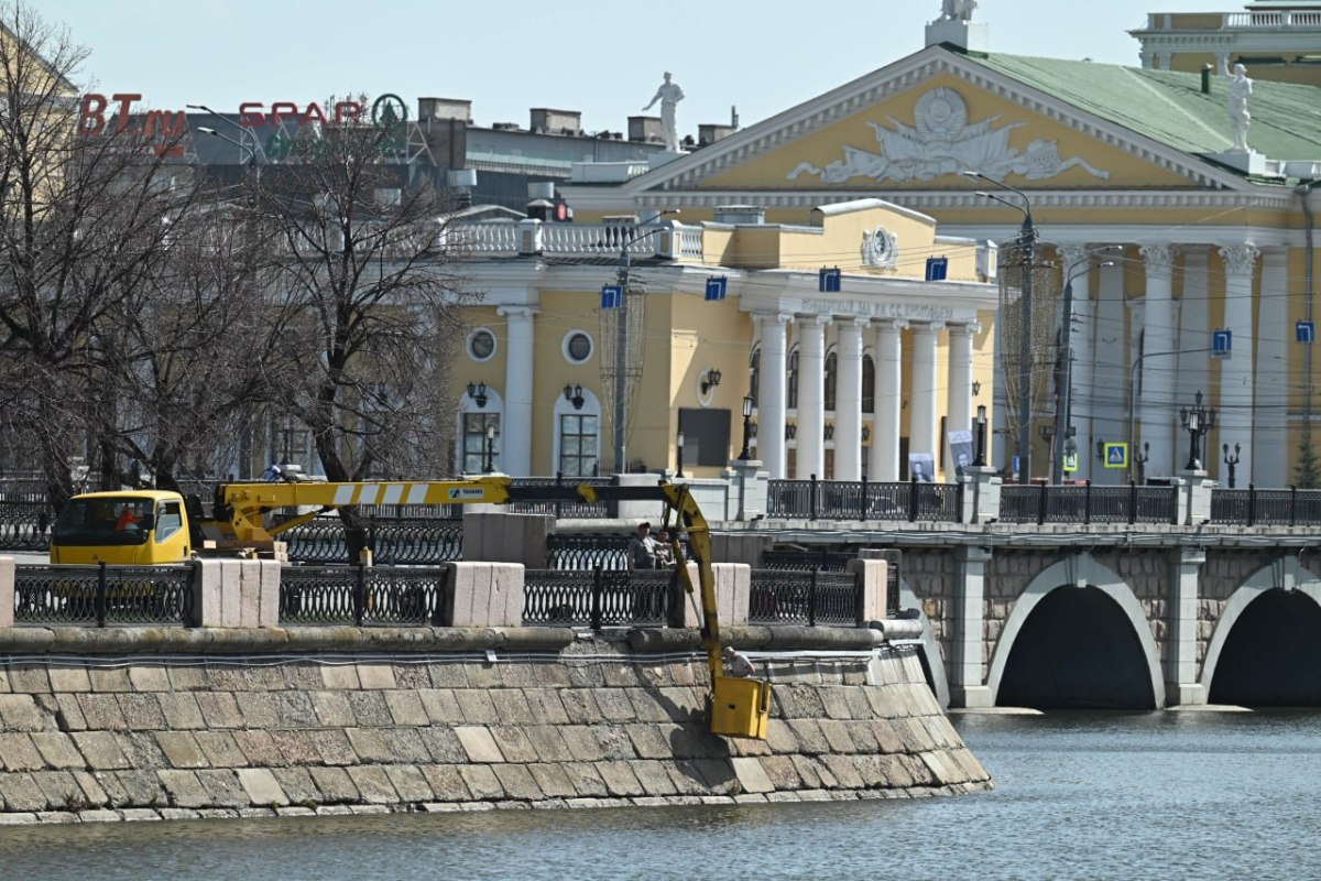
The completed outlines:
[[[1143,662],[1151,680],[1152,697],[1156,707],[1165,705],[1165,678],[1161,675],[1160,652],[1156,639],[1152,637],[1151,623],[1147,621],[1147,610],[1132,588],[1119,577],[1119,575],[1098,563],[1090,553],[1070,556],[1046,567],[1040,572],[1018,596],[1013,604],[1009,617],[1000,631],[995,654],[991,658],[991,668],[987,675],[987,687],[991,689],[992,703],[1000,701],[1000,684],[1004,680],[1009,656],[1015,643],[1022,633],[1024,625],[1033,610],[1057,589],[1095,588],[1110,597],[1119,608],[1120,614],[1128,621],[1137,637],[1137,645],[1143,652]]]

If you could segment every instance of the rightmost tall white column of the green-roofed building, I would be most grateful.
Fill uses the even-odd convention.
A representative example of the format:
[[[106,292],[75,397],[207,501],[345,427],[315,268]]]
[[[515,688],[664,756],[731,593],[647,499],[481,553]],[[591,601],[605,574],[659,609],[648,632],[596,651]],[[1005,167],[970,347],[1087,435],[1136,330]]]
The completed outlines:
[[[1289,353],[1293,343],[1293,325],[1289,324],[1289,271],[1285,248],[1262,248],[1262,304],[1258,308],[1262,346],[1256,353],[1256,413],[1254,427],[1254,458],[1256,470],[1252,476],[1258,486],[1288,486],[1289,461],[1289,398],[1293,388],[1289,384]],[[1238,333],[1234,334],[1234,349],[1238,349]],[[1235,351],[1234,357],[1238,357]],[[1247,446],[1246,437],[1234,437],[1223,431],[1221,441]],[[1207,450],[1210,464],[1223,461],[1219,446]],[[1221,473],[1221,468],[1207,468]],[[1243,472],[1238,472],[1235,478]],[[1222,476],[1222,481],[1227,479]],[[1239,486],[1246,486],[1235,481]]]

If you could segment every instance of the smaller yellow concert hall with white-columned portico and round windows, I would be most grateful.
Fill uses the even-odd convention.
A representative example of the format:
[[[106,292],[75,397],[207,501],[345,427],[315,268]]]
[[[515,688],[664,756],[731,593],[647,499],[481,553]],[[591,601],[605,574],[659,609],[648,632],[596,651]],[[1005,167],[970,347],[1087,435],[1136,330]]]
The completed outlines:
[[[947,433],[991,400],[993,244],[876,198],[651,214],[466,225],[461,470],[952,474]]]

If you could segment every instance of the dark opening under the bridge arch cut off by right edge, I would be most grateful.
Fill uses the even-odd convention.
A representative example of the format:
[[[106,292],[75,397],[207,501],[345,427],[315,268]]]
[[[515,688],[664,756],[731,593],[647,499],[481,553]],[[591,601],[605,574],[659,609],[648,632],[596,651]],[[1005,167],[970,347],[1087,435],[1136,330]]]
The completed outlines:
[[[1267,590],[1247,604],[1221,649],[1213,704],[1321,707],[1321,606]]]

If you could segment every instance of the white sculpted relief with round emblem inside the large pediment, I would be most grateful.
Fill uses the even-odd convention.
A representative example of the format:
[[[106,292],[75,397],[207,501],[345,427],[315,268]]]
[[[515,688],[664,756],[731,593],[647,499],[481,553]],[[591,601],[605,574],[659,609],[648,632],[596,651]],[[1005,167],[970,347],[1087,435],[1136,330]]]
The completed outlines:
[[[939,87],[922,95],[913,111],[913,125],[886,116],[889,125],[868,123],[876,132],[880,152],[844,147],[844,159],[818,168],[801,162],[787,176],[815,174],[823,184],[843,184],[855,177],[875,181],[930,181],[945,174],[976,170],[989,177],[1021,174],[1032,181],[1052,178],[1081,166],[1106,180],[1110,172],[1092,168],[1085,160],[1059,159],[1058,141],[1034,140],[1025,151],[1009,145],[1009,133],[1026,123],[996,127],[1000,116],[968,122],[968,106],[952,88]]]

